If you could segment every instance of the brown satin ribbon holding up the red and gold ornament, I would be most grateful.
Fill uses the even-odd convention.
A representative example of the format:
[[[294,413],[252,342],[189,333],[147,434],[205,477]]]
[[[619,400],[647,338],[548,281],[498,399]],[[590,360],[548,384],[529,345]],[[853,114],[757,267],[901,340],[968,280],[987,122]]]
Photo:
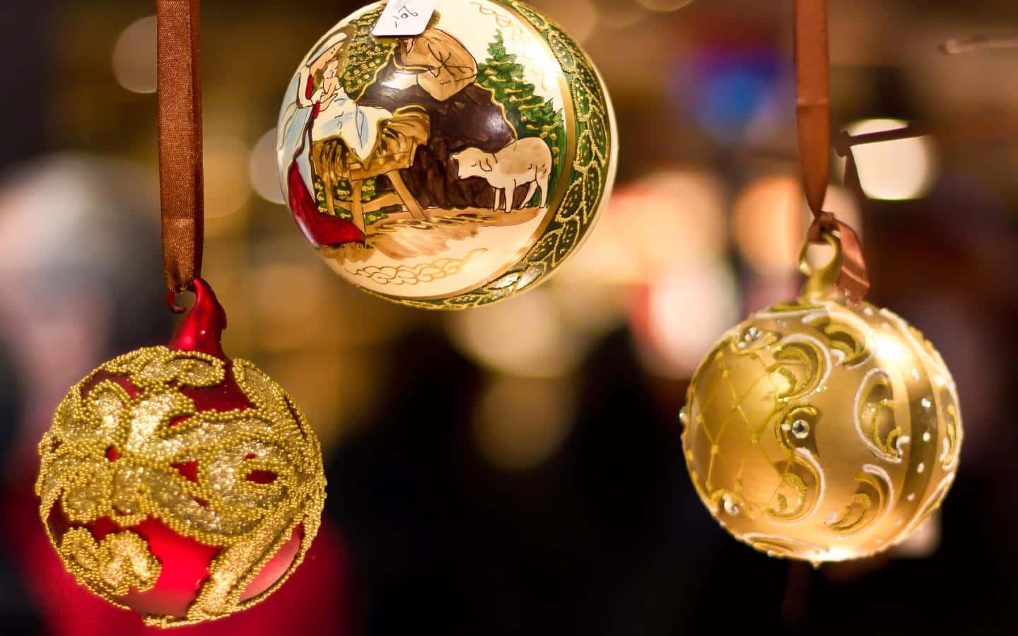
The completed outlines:
[[[202,273],[202,69],[199,0],[156,1],[159,189],[168,300]]]

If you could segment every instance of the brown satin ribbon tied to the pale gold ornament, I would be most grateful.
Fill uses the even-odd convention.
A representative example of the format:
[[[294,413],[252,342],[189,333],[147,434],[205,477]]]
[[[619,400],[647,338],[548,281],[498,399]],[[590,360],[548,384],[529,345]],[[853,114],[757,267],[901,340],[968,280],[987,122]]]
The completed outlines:
[[[859,237],[833,213],[824,212],[830,180],[831,152],[831,57],[828,47],[827,0],[795,0],[795,85],[799,166],[813,223],[809,241],[823,241],[825,232],[841,240],[842,269],[838,287],[849,300],[859,303],[869,290],[866,263]],[[840,153],[840,149],[839,149]],[[847,150],[845,181],[858,183],[858,171]]]

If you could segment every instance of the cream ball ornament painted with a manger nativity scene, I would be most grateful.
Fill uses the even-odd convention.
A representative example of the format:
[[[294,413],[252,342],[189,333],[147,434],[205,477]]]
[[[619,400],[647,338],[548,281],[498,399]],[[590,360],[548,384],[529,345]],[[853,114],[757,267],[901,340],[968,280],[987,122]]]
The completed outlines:
[[[330,28],[286,90],[277,159],[294,221],[336,274],[402,304],[533,288],[615,179],[601,76],[523,2],[439,0],[422,33],[375,37],[385,7]]]

